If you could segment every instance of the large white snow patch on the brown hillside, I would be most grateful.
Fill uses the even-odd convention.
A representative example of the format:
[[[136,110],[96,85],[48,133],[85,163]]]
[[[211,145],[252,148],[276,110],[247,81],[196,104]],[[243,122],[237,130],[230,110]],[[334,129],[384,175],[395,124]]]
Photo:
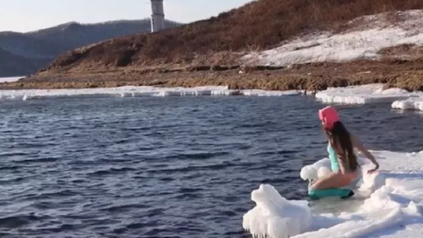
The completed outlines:
[[[377,59],[386,47],[401,44],[423,45],[423,10],[397,13],[395,22],[387,14],[359,17],[341,33],[315,32],[280,47],[244,55],[250,65],[286,66],[323,61]]]

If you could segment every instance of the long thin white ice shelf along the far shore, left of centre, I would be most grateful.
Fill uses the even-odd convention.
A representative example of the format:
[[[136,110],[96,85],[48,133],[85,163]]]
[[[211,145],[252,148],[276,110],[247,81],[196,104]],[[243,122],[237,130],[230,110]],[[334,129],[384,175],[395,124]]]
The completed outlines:
[[[99,89],[29,89],[0,90],[0,99],[39,99],[49,97],[142,97],[142,96],[282,96],[297,95],[298,91],[231,90],[226,86],[195,88],[159,88],[152,86],[124,86]]]

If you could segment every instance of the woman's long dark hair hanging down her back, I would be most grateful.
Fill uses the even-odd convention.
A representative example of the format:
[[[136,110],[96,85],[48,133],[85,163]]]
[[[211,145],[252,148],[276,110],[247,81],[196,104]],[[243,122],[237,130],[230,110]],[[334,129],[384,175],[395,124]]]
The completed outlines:
[[[324,129],[324,132],[332,144],[333,149],[335,149],[337,154],[343,154],[343,159],[348,158],[349,169],[355,171],[359,166],[357,163],[357,156],[354,153],[351,135],[342,122],[335,122],[332,129]],[[338,149],[342,149],[342,151],[337,151]],[[344,161],[344,163],[346,163],[346,161]]]

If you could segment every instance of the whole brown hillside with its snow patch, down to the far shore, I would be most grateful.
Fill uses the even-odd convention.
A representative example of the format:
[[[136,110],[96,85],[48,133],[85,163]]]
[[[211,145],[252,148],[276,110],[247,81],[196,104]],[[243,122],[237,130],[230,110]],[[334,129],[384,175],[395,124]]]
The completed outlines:
[[[58,56],[4,88],[204,86],[423,90],[423,1],[257,0],[211,19]]]

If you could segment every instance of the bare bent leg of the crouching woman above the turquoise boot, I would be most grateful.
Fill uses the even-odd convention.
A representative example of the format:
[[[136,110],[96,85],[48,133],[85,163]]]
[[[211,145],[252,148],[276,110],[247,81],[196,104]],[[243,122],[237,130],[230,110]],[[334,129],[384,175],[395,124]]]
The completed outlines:
[[[332,173],[327,177],[322,177],[313,183],[311,189],[327,189],[327,188],[340,188],[349,185],[354,180],[355,174],[341,174]]]

